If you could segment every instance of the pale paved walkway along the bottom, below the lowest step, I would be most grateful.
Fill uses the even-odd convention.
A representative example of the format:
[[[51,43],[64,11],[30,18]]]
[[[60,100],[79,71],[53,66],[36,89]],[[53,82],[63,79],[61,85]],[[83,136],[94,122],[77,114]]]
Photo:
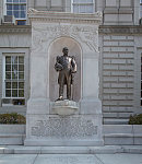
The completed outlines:
[[[0,164],[142,164],[142,154],[0,154]]]

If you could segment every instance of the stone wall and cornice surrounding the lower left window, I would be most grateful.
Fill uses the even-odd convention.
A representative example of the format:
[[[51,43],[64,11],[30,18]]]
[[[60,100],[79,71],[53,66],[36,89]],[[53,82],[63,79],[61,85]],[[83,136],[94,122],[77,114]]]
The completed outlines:
[[[31,26],[0,26],[0,113],[20,113],[25,115],[26,101],[29,96],[29,54]],[[3,56],[5,54],[23,54],[25,58],[25,106],[2,104]]]

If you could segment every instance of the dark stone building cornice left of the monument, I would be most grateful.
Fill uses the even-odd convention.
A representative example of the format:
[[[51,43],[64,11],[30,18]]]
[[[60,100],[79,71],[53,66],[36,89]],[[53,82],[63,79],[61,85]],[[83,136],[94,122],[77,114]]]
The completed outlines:
[[[31,25],[0,25],[0,34],[28,34],[32,33]]]

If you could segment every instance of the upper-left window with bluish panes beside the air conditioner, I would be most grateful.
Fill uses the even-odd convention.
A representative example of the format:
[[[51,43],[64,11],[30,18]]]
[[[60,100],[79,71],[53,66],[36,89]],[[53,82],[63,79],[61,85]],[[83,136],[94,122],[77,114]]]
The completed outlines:
[[[14,15],[17,21],[23,21],[22,25],[26,23],[26,0],[5,0],[5,14]],[[21,24],[21,23],[20,23]]]

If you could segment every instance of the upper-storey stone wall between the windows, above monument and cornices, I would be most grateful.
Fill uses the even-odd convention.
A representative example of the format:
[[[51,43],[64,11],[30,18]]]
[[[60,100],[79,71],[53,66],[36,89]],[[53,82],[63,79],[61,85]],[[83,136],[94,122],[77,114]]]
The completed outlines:
[[[105,25],[138,25],[140,0],[94,0],[95,11],[103,12]],[[3,17],[3,0],[0,1],[0,17]],[[71,0],[27,0],[29,8],[45,11],[71,12]]]

